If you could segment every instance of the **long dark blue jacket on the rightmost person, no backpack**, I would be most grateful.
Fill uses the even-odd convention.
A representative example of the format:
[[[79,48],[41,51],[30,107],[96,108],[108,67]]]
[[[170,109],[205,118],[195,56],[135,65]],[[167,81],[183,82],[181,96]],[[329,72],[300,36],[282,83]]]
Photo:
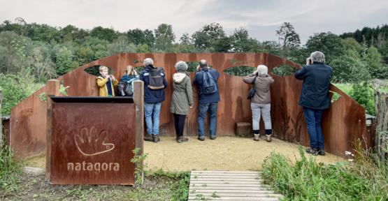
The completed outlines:
[[[295,73],[298,80],[303,80],[299,105],[315,110],[324,110],[330,107],[329,96],[330,80],[333,69],[323,63],[303,66]]]

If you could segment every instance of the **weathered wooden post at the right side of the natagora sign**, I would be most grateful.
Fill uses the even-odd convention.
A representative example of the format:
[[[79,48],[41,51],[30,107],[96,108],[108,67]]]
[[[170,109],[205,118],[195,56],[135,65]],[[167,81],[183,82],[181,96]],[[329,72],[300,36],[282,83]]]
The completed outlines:
[[[140,148],[138,156],[143,155],[143,138],[144,138],[144,82],[136,80],[134,83],[134,102],[136,104],[136,142],[135,147]],[[143,161],[141,162],[143,168]],[[137,167],[135,167],[137,168]],[[143,170],[142,170],[143,172]],[[144,175],[142,174],[142,181]]]

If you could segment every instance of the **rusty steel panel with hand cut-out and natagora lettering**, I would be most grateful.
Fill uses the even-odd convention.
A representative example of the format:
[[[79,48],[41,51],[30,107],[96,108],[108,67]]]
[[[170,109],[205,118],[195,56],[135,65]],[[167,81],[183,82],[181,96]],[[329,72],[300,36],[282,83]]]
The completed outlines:
[[[134,184],[134,103],[53,103],[51,184]]]

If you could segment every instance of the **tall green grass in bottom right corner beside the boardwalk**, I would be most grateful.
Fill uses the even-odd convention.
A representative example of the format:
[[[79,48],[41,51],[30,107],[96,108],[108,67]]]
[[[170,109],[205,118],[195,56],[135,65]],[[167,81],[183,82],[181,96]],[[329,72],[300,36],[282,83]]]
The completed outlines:
[[[307,158],[301,147],[301,160],[294,164],[272,153],[264,161],[263,177],[285,200],[387,200],[388,165],[371,151],[357,150],[355,162],[333,165]]]

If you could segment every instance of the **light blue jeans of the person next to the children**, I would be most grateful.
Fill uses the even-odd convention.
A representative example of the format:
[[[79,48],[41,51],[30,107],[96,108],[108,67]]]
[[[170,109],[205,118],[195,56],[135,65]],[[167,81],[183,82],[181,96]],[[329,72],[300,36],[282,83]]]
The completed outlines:
[[[159,114],[161,103],[144,103],[145,124],[149,135],[159,135]]]

